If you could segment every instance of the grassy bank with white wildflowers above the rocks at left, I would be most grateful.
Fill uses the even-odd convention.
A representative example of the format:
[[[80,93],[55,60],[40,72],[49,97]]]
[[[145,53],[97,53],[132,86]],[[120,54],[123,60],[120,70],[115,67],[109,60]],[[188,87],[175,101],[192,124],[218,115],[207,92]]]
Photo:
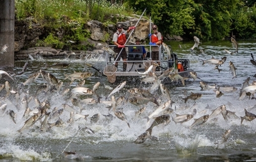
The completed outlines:
[[[133,9],[111,4],[107,0],[15,0],[16,20],[31,17],[29,21],[44,26],[47,34],[36,45],[53,48],[62,48],[67,40],[73,40],[77,42],[75,49],[86,50],[90,46],[80,44],[90,37],[90,31],[84,27],[86,22],[98,20],[107,26],[123,21],[125,16],[133,13]],[[122,16],[113,16],[116,14]],[[58,29],[66,31],[61,39],[56,36]]]

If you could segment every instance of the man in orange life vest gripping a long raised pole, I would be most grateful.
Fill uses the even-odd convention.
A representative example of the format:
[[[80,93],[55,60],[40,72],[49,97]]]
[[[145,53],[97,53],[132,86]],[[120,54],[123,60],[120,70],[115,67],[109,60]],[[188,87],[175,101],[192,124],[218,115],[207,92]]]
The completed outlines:
[[[126,42],[126,34],[129,33],[131,30],[135,29],[135,27],[129,27],[127,31],[123,30],[122,24],[117,25],[117,31],[113,35],[113,42],[117,46],[117,48],[114,49],[114,51],[119,54],[122,48],[125,48],[125,42]],[[126,71],[127,67],[127,53],[125,49],[122,49],[122,52],[118,56],[116,61],[120,60],[120,57],[123,59],[123,71]],[[115,58],[116,59],[116,58]],[[115,67],[117,67],[118,63],[115,63]]]

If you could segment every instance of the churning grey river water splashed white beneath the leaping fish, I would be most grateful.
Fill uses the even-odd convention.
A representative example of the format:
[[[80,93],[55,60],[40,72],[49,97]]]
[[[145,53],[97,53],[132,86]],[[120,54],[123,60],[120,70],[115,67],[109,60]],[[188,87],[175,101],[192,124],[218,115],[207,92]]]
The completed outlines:
[[[230,118],[225,121],[221,114],[215,119],[208,120],[202,125],[195,126],[189,129],[189,126],[194,122],[194,119],[177,123],[171,122],[168,125],[159,124],[154,126],[152,136],[155,138],[147,139],[142,144],[136,144],[133,141],[145,132],[150,126],[145,117],[149,116],[156,108],[153,103],[148,103],[146,110],[140,116],[135,116],[135,112],[140,108],[132,105],[129,102],[123,103],[118,108],[123,108],[123,113],[127,117],[127,122],[130,123],[130,128],[127,123],[118,118],[112,121],[107,121],[103,115],[112,113],[108,111],[107,106],[103,103],[94,105],[86,105],[82,114],[89,115],[87,120],[79,119],[72,126],[68,126],[66,121],[69,119],[70,112],[64,110],[60,115],[60,119],[64,121],[61,127],[53,126],[50,130],[40,131],[40,122],[36,122],[32,127],[19,133],[25,119],[22,117],[25,110],[18,109],[15,105],[20,104],[21,98],[16,101],[15,95],[11,94],[7,99],[1,100],[1,105],[7,103],[6,111],[13,110],[17,113],[15,118],[16,124],[11,120],[8,114],[2,113],[0,116],[0,162],[20,162],[20,161],[51,161],[51,162],[253,162],[256,161],[256,121],[248,122],[246,120],[241,124],[240,117],[245,116],[244,109],[256,114],[256,100],[244,99],[239,100],[240,89],[243,82],[251,77],[250,83],[255,80],[256,67],[250,62],[252,59],[251,53],[256,57],[256,41],[238,41],[238,53],[230,55],[224,51],[235,51],[230,40],[223,41],[207,41],[202,42],[199,48],[190,51],[194,42],[179,42],[170,41],[167,44],[172,46],[174,53],[178,54],[179,58],[188,58],[190,60],[190,68],[197,72],[198,77],[205,81],[208,85],[216,84],[217,86],[234,86],[238,90],[234,92],[223,92],[224,95],[216,98],[215,92],[211,90],[201,90],[200,81],[189,79],[185,82],[185,86],[166,85],[171,95],[171,99],[175,102],[172,109],[175,109],[171,116],[175,114],[191,114],[193,109],[197,109],[197,114],[194,119],[198,119],[204,115],[209,115],[217,107],[225,104],[226,109],[235,112],[238,118]],[[182,48],[180,48],[181,46]],[[200,52],[204,50],[204,53]],[[211,59],[214,56],[216,59],[221,59],[226,56],[226,62],[219,67],[222,69],[220,73],[214,70],[215,65],[202,65],[202,60]],[[232,61],[237,68],[237,78],[233,78],[229,71],[229,61]],[[29,62],[26,72],[22,75],[13,76],[15,81],[10,81],[11,87],[17,89],[20,83],[26,81],[28,76],[39,72],[43,69],[53,74],[58,80],[63,81],[63,87],[72,89],[78,82],[74,81],[68,85],[69,81],[64,80],[64,74],[72,74],[74,71],[90,71],[95,76],[86,80],[84,86],[93,88],[97,81],[100,81],[100,88],[97,90],[101,100],[105,99],[118,83],[110,84],[103,76],[98,76],[97,71],[85,65],[85,61],[80,59],[47,59],[47,58],[29,58],[28,60],[16,60],[14,73],[20,72],[25,62]],[[45,63],[49,65],[56,62],[67,62],[69,67],[66,69],[51,69],[45,68]],[[102,57],[92,57],[86,60],[87,63],[94,65],[101,71],[104,68]],[[233,79],[232,79],[233,78]],[[135,79],[134,81],[139,81]],[[4,84],[1,79],[0,83]],[[40,76],[30,86],[26,85],[23,89],[30,95],[35,94],[35,91],[40,85],[46,83]],[[127,89],[134,87],[135,83],[127,83],[122,90],[115,93],[114,96],[125,96],[128,98]],[[145,84],[142,84],[146,86]],[[65,87],[65,88],[66,88]],[[147,88],[150,86],[147,85]],[[29,91],[27,91],[29,90]],[[61,89],[62,90],[62,89]],[[184,103],[184,90],[187,90],[188,95],[193,93],[202,93],[203,96],[196,101],[188,100]],[[28,94],[28,95],[29,95]],[[23,96],[22,96],[23,95]],[[29,95],[29,96],[30,96]],[[154,92],[158,96],[161,103],[165,102],[161,95],[161,91]],[[5,90],[0,92],[0,97],[5,96]],[[91,96],[89,96],[91,98]],[[95,96],[93,96],[95,98]],[[40,93],[37,98],[43,102],[47,99],[51,105],[51,110],[54,107],[62,108],[61,104],[72,105],[67,96],[62,96],[58,92]],[[30,109],[35,108],[34,98],[29,103]],[[78,109],[78,107],[75,107]],[[203,111],[203,112],[202,112]],[[201,112],[201,113],[200,113]],[[91,123],[90,118],[99,113],[100,119],[96,123]],[[89,127],[94,131],[88,132],[85,129],[79,129],[78,126],[85,128]],[[226,130],[230,129],[231,133],[226,142],[222,143],[222,136]],[[88,130],[88,129],[87,129]],[[74,152],[75,155],[65,156],[62,152]]]

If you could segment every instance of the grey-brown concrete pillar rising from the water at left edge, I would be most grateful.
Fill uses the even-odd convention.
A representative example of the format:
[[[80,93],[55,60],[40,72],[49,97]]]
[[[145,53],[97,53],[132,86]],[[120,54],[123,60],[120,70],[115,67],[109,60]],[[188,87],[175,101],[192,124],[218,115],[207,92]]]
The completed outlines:
[[[14,19],[15,0],[0,0],[0,49],[7,44],[8,49],[0,53],[0,68],[14,67]]]

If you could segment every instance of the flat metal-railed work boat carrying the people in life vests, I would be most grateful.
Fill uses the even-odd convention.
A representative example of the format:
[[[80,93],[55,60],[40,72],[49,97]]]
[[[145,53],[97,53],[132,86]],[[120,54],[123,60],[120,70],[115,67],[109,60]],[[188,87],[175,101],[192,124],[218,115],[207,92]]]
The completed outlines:
[[[143,58],[143,50],[142,47],[147,49],[151,49],[152,46],[158,46],[159,48],[159,62],[153,61],[151,58],[151,51],[147,52],[146,58]],[[108,49],[115,48],[115,45],[108,45]],[[103,74],[107,76],[107,80],[110,83],[115,82],[116,80],[125,80],[129,81],[132,77],[142,76],[142,73],[146,72],[147,69],[153,65],[152,71],[156,76],[160,76],[163,71],[168,68],[174,67],[174,69],[178,70],[178,74],[182,77],[190,77],[190,72],[193,71],[190,69],[189,59],[177,58],[177,54],[171,52],[167,54],[163,50],[163,45],[125,45],[126,53],[127,53],[127,68],[126,71],[123,71],[123,60],[116,61],[114,56],[110,52],[106,52],[105,57],[105,68]],[[169,46],[171,49],[171,47]],[[172,50],[171,50],[172,51]],[[118,55],[118,53],[117,53]],[[115,62],[118,62],[118,68],[114,66]],[[170,83],[171,80],[166,77],[163,82]]]

